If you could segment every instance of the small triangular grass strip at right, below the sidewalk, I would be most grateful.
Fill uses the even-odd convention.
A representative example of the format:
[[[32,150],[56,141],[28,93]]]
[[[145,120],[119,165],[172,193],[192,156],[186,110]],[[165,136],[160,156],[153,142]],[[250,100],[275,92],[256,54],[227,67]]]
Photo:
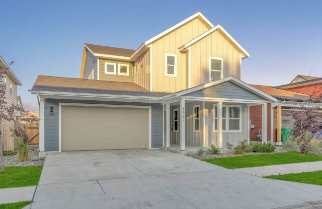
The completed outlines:
[[[279,179],[284,181],[295,181],[299,183],[316,184],[322,186],[322,171],[265,176],[265,178]]]

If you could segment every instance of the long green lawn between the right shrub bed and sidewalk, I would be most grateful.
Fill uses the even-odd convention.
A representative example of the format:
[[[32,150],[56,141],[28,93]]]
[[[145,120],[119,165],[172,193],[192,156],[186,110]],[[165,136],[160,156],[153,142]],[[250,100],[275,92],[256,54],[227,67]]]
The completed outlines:
[[[287,152],[260,155],[244,155],[237,157],[209,158],[204,159],[204,161],[225,168],[234,169],[288,163],[322,161],[322,156],[311,154],[300,155],[297,152]]]

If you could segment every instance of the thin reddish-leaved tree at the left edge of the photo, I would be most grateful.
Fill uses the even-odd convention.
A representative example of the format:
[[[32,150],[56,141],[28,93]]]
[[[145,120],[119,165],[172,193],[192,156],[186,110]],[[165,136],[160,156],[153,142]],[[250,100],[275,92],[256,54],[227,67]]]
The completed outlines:
[[[9,66],[12,65],[14,62],[12,61],[8,66],[0,66],[0,159],[1,159],[1,169],[0,172],[5,172],[4,166],[4,156],[3,156],[3,147],[4,147],[4,129],[3,129],[3,122],[4,121],[13,121],[16,120],[15,112],[18,111],[21,114],[26,113],[25,109],[16,104],[8,105],[6,101],[6,83],[5,74],[9,70]]]

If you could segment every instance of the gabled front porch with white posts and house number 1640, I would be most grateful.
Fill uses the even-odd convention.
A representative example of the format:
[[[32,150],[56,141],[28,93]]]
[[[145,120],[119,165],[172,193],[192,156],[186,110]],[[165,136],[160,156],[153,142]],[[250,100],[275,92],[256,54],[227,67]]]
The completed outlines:
[[[198,153],[214,145],[225,149],[250,141],[250,107],[262,106],[263,143],[267,142],[267,104],[275,98],[235,78],[222,79],[167,98],[165,148],[179,153]],[[184,151],[184,152],[183,152]]]

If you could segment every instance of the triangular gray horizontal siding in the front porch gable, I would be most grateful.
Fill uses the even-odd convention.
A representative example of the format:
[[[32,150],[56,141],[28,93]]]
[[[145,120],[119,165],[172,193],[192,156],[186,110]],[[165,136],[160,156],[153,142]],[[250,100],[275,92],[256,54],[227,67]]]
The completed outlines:
[[[264,98],[229,81],[187,94],[192,97],[213,97],[223,99],[265,100]]]

